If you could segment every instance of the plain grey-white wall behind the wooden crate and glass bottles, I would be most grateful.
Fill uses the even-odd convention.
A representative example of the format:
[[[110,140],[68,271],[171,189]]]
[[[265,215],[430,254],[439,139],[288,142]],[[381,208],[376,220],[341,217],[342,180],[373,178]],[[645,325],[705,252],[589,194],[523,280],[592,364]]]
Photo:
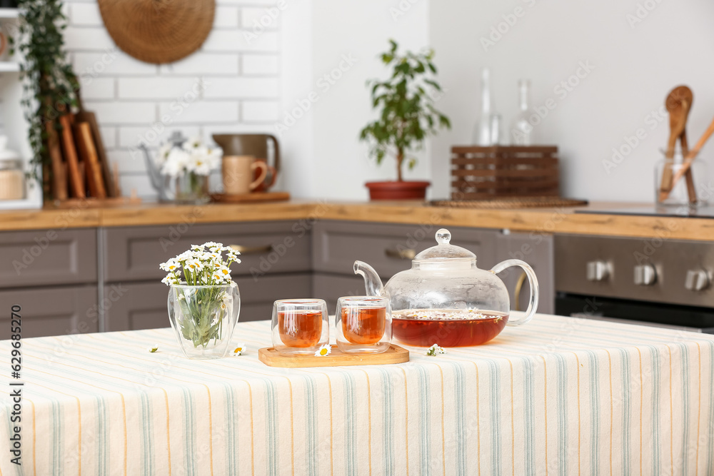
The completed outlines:
[[[636,18],[638,4],[653,9],[640,10],[644,18],[630,26],[627,15]],[[488,38],[503,15],[513,14],[516,7],[523,15],[513,26],[501,25],[506,34],[485,51],[481,37]],[[471,139],[483,66],[491,68],[495,107],[506,124],[518,107],[518,79],[531,79],[534,105],[554,99],[555,109],[535,133],[540,143],[560,148],[565,196],[653,201],[653,168],[658,150],[666,146],[669,126],[667,116],[658,122],[648,114],[663,105],[671,88],[684,83],[694,92],[690,146],[714,116],[710,0],[439,0],[430,3],[428,17],[436,64],[448,88],[439,107],[453,121],[453,130],[432,142],[436,196],[448,194],[449,148]],[[595,68],[567,96],[553,91],[575,73],[580,61]],[[608,173],[603,162],[611,160],[612,149],[625,146],[627,151],[626,138],[640,128],[645,138]],[[700,156],[710,163],[710,176],[712,155],[710,143]]]

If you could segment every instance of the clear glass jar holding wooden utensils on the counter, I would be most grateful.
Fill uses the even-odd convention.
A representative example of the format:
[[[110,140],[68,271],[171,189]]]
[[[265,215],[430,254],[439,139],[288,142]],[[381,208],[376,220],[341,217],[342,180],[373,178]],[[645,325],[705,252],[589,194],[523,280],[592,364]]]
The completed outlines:
[[[708,193],[708,167],[702,158],[695,158],[690,164],[690,173],[685,173],[677,183],[673,178],[683,168],[685,160],[681,150],[676,150],[672,158],[667,158],[663,152],[663,159],[655,166],[655,201],[658,205],[665,206],[701,206],[709,198]],[[665,191],[670,190],[665,197]],[[690,200],[690,191],[693,191],[694,201]]]

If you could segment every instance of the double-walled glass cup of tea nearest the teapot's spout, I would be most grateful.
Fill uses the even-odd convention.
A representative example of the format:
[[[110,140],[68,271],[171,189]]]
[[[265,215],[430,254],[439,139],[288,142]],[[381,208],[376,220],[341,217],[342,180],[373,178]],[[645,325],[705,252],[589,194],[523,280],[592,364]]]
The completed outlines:
[[[337,347],[344,353],[381,353],[392,340],[387,298],[348,296],[337,300]]]

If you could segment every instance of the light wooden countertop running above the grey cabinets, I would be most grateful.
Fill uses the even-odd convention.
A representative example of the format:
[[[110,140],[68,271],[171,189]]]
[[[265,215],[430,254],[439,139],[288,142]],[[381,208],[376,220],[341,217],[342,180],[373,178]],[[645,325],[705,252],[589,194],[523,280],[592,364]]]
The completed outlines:
[[[509,228],[535,233],[576,233],[714,241],[714,219],[573,213],[575,210],[613,210],[646,207],[645,203],[590,203],[578,208],[522,208],[483,210],[427,206],[421,202],[341,203],[290,201],[278,203],[180,206],[144,203],[111,208],[52,208],[0,211],[0,231],[45,228],[146,226],[172,223],[216,223],[276,220],[347,220],[416,223],[475,228]],[[651,207],[651,204],[649,205]]]

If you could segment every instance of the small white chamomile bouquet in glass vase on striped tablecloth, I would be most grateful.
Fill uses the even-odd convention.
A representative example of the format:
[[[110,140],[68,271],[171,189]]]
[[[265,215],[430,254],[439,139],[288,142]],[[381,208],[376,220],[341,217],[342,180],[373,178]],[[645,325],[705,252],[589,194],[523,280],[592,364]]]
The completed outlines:
[[[170,287],[171,327],[188,358],[226,355],[241,308],[238,285],[231,278],[231,265],[241,263],[238,254],[209,241],[159,265],[168,273],[161,282]]]

